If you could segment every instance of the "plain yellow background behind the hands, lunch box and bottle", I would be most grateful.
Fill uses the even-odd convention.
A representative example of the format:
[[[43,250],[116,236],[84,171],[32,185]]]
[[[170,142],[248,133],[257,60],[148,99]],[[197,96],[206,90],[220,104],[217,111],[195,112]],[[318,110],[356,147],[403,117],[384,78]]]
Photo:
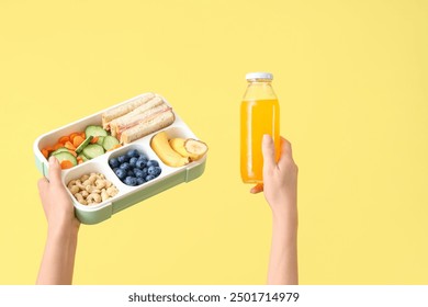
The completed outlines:
[[[270,209],[239,178],[245,73],[274,75],[300,167],[302,284],[428,283],[427,1],[0,2],[0,283],[46,235],[34,139],[142,92],[210,145],[202,178],[82,226],[76,284],[262,284]]]

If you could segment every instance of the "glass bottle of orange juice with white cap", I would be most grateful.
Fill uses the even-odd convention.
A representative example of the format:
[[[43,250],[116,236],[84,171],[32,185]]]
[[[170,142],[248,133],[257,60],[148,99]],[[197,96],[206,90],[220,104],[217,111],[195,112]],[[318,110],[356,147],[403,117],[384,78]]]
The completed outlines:
[[[240,104],[240,177],[245,183],[263,182],[261,141],[272,136],[280,156],[280,104],[272,89],[272,73],[247,73],[247,91]]]

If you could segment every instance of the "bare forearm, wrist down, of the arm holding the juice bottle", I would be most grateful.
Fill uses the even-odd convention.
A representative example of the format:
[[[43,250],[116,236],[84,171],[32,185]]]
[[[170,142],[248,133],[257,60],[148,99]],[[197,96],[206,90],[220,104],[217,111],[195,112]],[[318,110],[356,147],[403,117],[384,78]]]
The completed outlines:
[[[297,212],[272,213],[272,246],[268,284],[299,284],[297,274]]]

